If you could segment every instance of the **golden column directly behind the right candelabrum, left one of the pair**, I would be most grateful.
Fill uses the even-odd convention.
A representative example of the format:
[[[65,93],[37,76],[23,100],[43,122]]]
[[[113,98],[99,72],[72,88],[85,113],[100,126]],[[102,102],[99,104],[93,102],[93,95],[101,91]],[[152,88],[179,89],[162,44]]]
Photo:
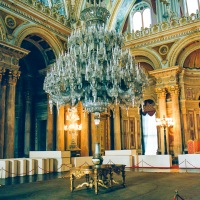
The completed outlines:
[[[159,108],[159,117],[162,119],[163,116],[166,116],[166,89],[165,88],[156,88],[156,94],[158,96],[158,108]],[[164,154],[164,130],[160,128],[160,135],[158,135],[158,151],[161,151]],[[160,137],[159,137],[160,136]],[[168,149],[168,147],[167,147]]]

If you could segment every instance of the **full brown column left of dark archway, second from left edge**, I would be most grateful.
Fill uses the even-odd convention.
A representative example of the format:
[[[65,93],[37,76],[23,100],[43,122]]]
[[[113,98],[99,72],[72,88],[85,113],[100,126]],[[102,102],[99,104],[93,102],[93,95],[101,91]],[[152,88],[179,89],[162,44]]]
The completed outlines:
[[[4,158],[14,157],[15,88],[17,74],[9,71],[5,106]]]

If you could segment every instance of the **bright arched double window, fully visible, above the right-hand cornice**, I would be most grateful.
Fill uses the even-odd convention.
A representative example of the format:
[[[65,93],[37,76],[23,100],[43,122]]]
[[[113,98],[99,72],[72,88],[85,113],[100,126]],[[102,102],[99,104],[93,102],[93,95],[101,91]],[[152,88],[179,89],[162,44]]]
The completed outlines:
[[[151,10],[146,2],[136,4],[131,14],[131,30],[141,30],[141,28],[149,28],[151,25]]]

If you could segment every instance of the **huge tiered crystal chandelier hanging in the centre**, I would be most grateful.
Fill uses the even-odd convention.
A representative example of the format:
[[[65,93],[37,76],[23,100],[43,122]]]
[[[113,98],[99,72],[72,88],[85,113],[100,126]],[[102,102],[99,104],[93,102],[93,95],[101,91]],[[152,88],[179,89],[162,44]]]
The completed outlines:
[[[68,51],[58,57],[44,80],[49,104],[75,106],[83,103],[87,112],[106,111],[113,104],[141,104],[147,76],[129,50],[122,50],[124,37],[106,29],[109,11],[103,0],[90,0],[81,12],[85,22],[68,38]]]

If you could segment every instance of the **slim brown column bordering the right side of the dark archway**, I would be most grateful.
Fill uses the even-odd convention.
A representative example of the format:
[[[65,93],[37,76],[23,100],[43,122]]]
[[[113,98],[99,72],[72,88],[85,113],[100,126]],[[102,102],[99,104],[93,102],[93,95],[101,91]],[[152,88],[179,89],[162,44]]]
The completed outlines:
[[[53,151],[53,131],[54,131],[54,109],[50,111],[49,104],[47,104],[47,130],[46,130],[46,150]]]

